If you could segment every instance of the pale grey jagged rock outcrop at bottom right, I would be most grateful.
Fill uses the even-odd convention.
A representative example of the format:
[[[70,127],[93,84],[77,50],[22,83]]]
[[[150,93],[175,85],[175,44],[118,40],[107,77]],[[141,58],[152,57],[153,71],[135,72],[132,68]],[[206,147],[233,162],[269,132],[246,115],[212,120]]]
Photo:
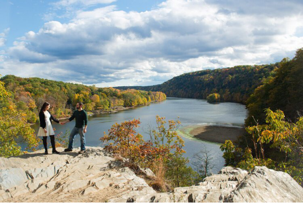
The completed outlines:
[[[303,188],[288,174],[266,167],[251,173],[226,167],[199,185],[134,196],[128,202],[303,202]]]

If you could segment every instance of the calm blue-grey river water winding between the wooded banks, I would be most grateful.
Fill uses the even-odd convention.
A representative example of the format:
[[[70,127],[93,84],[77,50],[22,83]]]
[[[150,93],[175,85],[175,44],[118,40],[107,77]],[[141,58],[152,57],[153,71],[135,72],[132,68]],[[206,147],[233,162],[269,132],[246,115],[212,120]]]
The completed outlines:
[[[98,114],[89,117],[88,132],[86,134],[87,146],[103,147],[100,138],[103,137],[104,131],[108,132],[111,126],[118,122],[126,120],[140,119],[141,126],[138,131],[148,140],[149,136],[144,134],[148,125],[156,126],[156,115],[166,117],[167,120],[173,119],[182,122],[182,126],[189,125],[234,125],[243,126],[244,120],[247,117],[247,110],[244,105],[237,103],[220,103],[209,104],[206,100],[198,99],[181,99],[167,98],[166,101],[153,103],[148,106],[136,107],[118,113]],[[56,128],[56,133],[65,132],[66,129],[72,129],[74,121],[61,126],[57,123],[53,124]],[[36,133],[39,125],[32,126]],[[213,173],[217,173],[224,167],[224,159],[218,144],[203,142],[195,139],[184,137],[185,147],[187,152],[185,157],[191,161],[194,154],[200,152],[204,147],[210,152],[213,157],[212,164],[215,166]],[[75,139],[74,147],[80,146],[79,136]]]

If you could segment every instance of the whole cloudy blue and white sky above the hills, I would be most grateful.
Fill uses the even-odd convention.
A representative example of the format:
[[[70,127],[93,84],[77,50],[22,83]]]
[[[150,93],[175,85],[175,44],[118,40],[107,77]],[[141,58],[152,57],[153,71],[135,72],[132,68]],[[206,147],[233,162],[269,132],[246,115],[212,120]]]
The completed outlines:
[[[0,0],[0,74],[147,86],[293,58],[301,0]]]

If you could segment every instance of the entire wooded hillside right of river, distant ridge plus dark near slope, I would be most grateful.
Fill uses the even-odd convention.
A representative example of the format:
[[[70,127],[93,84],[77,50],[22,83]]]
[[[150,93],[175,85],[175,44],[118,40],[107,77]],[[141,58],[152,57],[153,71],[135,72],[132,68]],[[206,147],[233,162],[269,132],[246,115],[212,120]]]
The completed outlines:
[[[221,102],[239,102],[247,105],[247,125],[265,121],[265,108],[282,110],[287,119],[295,121],[303,114],[303,48],[293,59],[269,65],[241,65],[227,69],[205,70],[183,74],[162,85],[133,88],[161,91],[168,97],[206,99],[219,94]]]

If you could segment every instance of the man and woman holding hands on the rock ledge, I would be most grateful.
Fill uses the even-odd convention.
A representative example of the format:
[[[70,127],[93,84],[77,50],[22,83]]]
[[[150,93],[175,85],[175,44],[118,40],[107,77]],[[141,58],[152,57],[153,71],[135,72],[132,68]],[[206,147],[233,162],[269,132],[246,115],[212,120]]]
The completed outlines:
[[[60,152],[56,150],[55,132],[52,127],[52,120],[56,123],[64,125],[65,123],[70,122],[73,119],[75,119],[75,126],[70,132],[68,148],[65,149],[64,152],[72,152],[73,140],[75,136],[77,136],[77,134],[80,134],[81,151],[79,152],[79,154],[83,154],[85,152],[85,133],[87,132],[87,124],[88,124],[88,115],[87,112],[83,109],[83,103],[81,102],[77,103],[77,110],[75,110],[72,116],[68,118],[68,120],[66,120],[65,122],[59,122],[57,119],[55,119],[48,111],[49,108],[50,108],[50,104],[45,102],[42,105],[42,108],[39,112],[40,128],[38,132],[38,137],[42,138],[43,146],[45,148],[45,155],[48,154],[48,150],[47,150],[48,136],[50,137],[52,153],[60,154]]]

